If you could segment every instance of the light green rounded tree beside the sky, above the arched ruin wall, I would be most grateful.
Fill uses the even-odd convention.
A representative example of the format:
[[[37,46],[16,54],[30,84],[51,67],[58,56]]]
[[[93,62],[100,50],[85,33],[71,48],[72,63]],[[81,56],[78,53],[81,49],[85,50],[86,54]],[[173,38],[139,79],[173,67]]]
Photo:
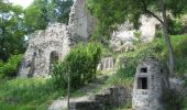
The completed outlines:
[[[24,22],[29,33],[35,30],[44,30],[48,24],[47,0],[34,0],[24,10]]]

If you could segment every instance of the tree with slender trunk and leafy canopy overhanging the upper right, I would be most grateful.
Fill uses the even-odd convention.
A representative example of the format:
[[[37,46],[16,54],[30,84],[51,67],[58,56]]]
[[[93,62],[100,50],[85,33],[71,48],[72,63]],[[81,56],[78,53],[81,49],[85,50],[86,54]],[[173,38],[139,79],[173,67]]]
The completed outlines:
[[[141,14],[157,19],[163,26],[165,42],[168,48],[168,69],[173,74],[174,53],[168,33],[167,13],[179,16],[185,12],[186,3],[187,0],[108,0],[107,2],[103,0],[88,0],[88,9],[98,19],[102,19],[101,13],[103,13],[105,18],[110,19],[110,25],[120,22],[119,20],[128,20],[134,26],[138,26]],[[108,6],[108,10],[102,9],[105,6]],[[120,19],[118,20],[117,18]]]

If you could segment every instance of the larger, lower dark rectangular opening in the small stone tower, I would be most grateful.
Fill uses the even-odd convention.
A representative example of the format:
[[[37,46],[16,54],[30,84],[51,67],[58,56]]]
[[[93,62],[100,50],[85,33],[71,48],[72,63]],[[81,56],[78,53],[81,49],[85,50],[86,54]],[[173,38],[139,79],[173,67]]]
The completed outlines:
[[[147,89],[147,77],[138,78],[138,89]]]

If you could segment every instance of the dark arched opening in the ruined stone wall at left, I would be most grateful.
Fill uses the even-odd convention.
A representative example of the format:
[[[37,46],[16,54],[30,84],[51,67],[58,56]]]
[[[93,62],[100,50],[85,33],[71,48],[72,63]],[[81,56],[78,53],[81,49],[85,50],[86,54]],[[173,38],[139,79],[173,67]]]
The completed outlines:
[[[50,73],[52,73],[53,67],[56,63],[58,63],[59,55],[57,51],[53,51],[50,54]]]

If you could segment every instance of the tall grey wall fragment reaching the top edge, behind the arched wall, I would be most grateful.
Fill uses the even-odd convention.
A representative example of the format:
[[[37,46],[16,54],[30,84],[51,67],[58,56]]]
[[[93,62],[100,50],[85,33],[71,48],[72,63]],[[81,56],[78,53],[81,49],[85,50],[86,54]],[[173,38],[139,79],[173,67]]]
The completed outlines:
[[[69,14],[69,31],[72,37],[88,38],[92,32],[94,18],[86,10],[86,0],[75,0]]]

